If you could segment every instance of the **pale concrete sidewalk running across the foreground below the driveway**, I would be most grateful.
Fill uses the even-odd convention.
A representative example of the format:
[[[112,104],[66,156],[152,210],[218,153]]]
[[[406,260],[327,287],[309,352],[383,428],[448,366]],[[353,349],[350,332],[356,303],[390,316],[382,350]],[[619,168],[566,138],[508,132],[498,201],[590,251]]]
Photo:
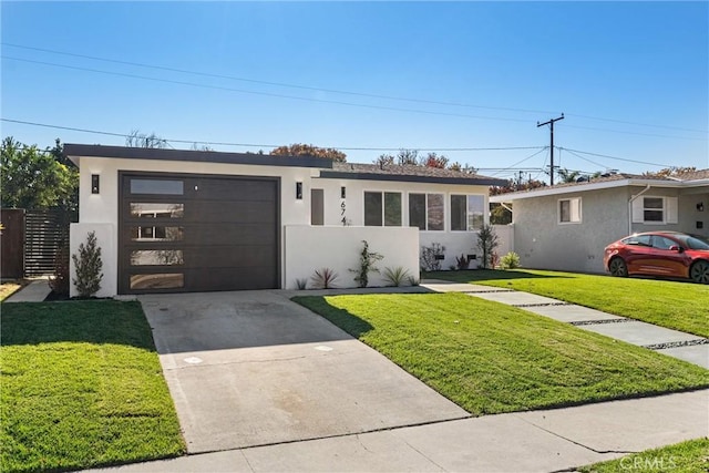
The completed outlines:
[[[557,472],[709,433],[709,390],[434,422],[95,472]]]

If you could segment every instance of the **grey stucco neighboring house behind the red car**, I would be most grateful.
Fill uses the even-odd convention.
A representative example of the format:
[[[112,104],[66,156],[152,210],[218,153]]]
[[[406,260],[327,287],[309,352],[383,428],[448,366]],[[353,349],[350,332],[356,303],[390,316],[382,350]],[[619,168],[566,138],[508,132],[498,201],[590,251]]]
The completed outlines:
[[[513,247],[526,268],[603,273],[604,248],[624,236],[709,235],[709,169],[672,177],[613,174],[502,194],[512,204]]]

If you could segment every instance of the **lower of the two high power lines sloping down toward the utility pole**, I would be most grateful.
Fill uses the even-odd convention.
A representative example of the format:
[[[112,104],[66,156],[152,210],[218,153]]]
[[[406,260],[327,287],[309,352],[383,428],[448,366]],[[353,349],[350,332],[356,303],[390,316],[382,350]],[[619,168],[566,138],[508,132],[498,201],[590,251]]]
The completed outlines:
[[[169,84],[188,85],[188,86],[193,86],[193,88],[213,89],[213,90],[237,92],[237,93],[251,94],[251,95],[270,96],[270,97],[277,97],[277,99],[299,100],[299,101],[304,101],[304,102],[331,103],[331,104],[335,104],[335,105],[357,106],[357,107],[361,107],[361,109],[387,110],[387,111],[407,112],[407,113],[422,113],[422,114],[427,114],[427,115],[456,116],[456,117],[462,117],[462,119],[495,120],[495,121],[502,121],[502,122],[521,122],[521,123],[527,123],[528,122],[528,120],[522,120],[522,119],[504,119],[504,117],[500,117],[500,116],[479,116],[479,115],[466,115],[466,114],[463,114],[463,113],[433,112],[433,111],[430,111],[430,110],[401,109],[401,107],[397,107],[397,106],[369,105],[369,104],[362,104],[362,103],[342,102],[342,101],[327,100],[327,99],[314,99],[314,97],[304,97],[304,96],[297,96],[297,95],[277,94],[277,93],[270,93],[270,92],[247,91],[247,90],[243,90],[243,89],[225,88],[225,86],[220,86],[220,85],[208,85],[208,84],[199,84],[199,83],[196,83],[196,82],[175,81],[175,80],[172,80],[172,79],[148,78],[146,75],[129,74],[126,72],[102,71],[100,69],[80,68],[78,65],[56,64],[56,63],[53,63],[53,62],[34,61],[34,60],[30,60],[30,59],[12,58],[12,56],[9,56],[9,55],[2,55],[0,58],[7,59],[7,60],[10,60],[10,61],[20,61],[20,62],[27,62],[27,63],[31,63],[31,64],[42,64],[42,65],[49,65],[49,66],[52,66],[52,68],[70,69],[70,70],[74,70],[74,71],[94,72],[94,73],[97,73],[97,74],[116,75],[116,76],[122,76],[122,78],[140,79],[140,80],[144,80],[144,81],[164,82],[164,83],[169,83]]]

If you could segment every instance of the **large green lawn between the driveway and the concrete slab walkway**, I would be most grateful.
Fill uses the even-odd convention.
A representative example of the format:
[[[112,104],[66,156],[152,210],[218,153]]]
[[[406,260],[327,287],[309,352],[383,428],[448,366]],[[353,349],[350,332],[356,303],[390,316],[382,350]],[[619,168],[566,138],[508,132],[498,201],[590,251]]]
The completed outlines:
[[[474,415],[709,385],[700,367],[462,294],[294,300]]]

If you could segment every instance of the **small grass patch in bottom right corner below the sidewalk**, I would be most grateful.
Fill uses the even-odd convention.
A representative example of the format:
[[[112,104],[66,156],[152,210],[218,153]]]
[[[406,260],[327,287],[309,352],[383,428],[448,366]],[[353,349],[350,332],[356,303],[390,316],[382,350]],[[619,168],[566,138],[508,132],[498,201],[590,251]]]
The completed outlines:
[[[646,450],[618,460],[595,463],[578,469],[582,473],[709,471],[709,439],[689,440],[660,449]]]

